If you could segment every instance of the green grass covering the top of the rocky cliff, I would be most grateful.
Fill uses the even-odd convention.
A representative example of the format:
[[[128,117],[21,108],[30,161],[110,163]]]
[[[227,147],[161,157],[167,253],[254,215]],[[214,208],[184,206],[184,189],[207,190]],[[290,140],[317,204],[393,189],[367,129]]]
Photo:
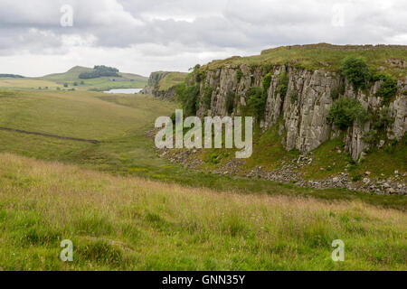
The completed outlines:
[[[262,66],[265,69],[270,69],[273,65],[290,64],[294,67],[307,70],[324,69],[338,71],[341,62],[347,56],[363,57],[368,65],[376,69],[383,67],[384,72],[390,73],[398,79],[404,79],[407,75],[407,71],[404,68],[391,66],[386,62],[390,59],[407,61],[407,50],[405,47],[404,49],[381,47],[366,50],[350,50],[350,48],[345,46],[329,44],[312,44],[308,45],[308,47],[279,47],[262,51],[260,55],[212,61],[208,65],[203,66],[202,69],[214,70],[225,65],[241,64]]]

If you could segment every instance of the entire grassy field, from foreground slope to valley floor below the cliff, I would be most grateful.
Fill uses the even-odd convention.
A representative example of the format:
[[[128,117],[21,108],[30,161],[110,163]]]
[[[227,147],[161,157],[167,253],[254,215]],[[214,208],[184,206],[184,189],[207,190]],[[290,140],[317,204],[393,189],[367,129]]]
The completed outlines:
[[[145,96],[0,91],[0,126],[100,141],[0,130],[0,269],[406,269],[405,197],[168,163],[146,132],[175,107]],[[265,137],[256,142],[275,135]],[[336,238],[343,264],[330,259]],[[58,259],[62,239],[74,243],[72,264]]]

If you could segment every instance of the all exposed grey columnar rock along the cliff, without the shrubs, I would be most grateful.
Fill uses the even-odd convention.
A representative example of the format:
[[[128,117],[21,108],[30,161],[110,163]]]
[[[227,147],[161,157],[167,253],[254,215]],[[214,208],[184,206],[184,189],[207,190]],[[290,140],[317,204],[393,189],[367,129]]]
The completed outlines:
[[[285,96],[278,92],[281,73],[288,73],[289,76]],[[248,89],[252,86],[260,87],[264,74],[260,67],[250,67],[246,64],[207,71],[201,82],[201,98],[204,88],[212,88],[212,103],[210,109],[198,107],[198,117],[226,116],[228,113],[225,103],[228,93],[235,96],[232,115],[240,115],[241,108],[247,105]],[[334,103],[333,96],[340,90],[343,90],[345,97],[358,99],[369,111],[383,109],[382,99],[375,97],[375,92],[381,85],[380,81],[374,83],[368,91],[355,92],[353,86],[340,75],[325,70],[309,71],[290,66],[275,66],[270,74],[265,116],[260,127],[267,130],[281,121],[287,132],[284,138],[287,150],[298,149],[302,153],[308,153],[340,135],[339,129],[327,121],[329,108]],[[399,81],[397,96],[389,106],[392,114],[389,117],[394,119],[393,126],[388,131],[388,137],[391,139],[401,139],[407,129],[407,97],[402,93],[407,89],[406,80]],[[369,147],[364,143],[364,135],[371,126],[370,122],[362,127],[355,122],[354,126],[345,132],[345,147],[355,160]]]

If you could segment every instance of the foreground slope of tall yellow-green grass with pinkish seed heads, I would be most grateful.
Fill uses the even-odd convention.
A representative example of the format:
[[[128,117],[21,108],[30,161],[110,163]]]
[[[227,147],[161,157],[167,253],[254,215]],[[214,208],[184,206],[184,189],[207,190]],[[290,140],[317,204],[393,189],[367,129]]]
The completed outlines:
[[[3,270],[407,269],[401,211],[193,190],[14,154],[0,162]],[[62,239],[71,263],[59,259]],[[331,259],[335,239],[345,262]]]

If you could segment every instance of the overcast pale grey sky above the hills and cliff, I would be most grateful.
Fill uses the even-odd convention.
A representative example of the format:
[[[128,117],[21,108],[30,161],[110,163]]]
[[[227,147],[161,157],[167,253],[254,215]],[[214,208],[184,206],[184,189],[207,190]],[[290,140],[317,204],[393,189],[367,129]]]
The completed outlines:
[[[0,0],[0,73],[148,76],[281,45],[407,44],[405,0]]]

